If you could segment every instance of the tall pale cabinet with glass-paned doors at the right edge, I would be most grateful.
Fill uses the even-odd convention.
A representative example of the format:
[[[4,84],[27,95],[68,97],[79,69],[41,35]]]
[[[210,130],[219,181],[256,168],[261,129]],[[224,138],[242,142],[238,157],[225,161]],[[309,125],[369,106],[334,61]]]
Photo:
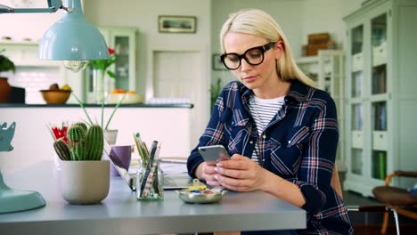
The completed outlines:
[[[374,0],[347,24],[346,190],[372,196],[395,170],[417,170],[417,1]],[[396,181],[408,185],[405,179]]]

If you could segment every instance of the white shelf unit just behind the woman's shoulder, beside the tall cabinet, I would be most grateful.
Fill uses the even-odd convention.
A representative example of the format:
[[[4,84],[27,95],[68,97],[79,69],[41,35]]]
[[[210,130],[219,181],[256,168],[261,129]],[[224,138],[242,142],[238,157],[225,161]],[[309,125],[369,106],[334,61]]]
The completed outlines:
[[[299,69],[315,81],[318,88],[331,95],[336,103],[339,122],[339,145],[336,163],[344,171],[344,53],[340,50],[320,50],[317,56],[297,60]]]

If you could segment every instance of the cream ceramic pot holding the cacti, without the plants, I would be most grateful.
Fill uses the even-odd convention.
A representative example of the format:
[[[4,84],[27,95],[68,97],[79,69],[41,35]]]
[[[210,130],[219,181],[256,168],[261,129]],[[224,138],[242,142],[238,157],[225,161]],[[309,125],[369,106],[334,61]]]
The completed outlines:
[[[61,194],[71,204],[95,204],[107,197],[110,161],[61,161]]]

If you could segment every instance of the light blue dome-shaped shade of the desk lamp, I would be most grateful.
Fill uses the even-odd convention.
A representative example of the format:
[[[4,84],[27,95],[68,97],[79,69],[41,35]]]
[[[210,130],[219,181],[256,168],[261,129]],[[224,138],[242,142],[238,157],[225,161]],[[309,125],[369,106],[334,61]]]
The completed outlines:
[[[70,0],[72,12],[65,13],[49,28],[39,44],[42,60],[92,61],[109,58],[100,31],[86,20],[79,0]]]

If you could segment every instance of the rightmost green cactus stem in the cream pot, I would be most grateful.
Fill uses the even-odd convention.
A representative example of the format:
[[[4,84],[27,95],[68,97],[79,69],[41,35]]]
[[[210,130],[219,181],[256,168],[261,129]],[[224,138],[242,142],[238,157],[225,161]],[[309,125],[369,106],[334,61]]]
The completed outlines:
[[[104,146],[104,137],[101,126],[90,126],[86,132],[86,154],[91,160],[100,160],[102,158],[102,149]]]

